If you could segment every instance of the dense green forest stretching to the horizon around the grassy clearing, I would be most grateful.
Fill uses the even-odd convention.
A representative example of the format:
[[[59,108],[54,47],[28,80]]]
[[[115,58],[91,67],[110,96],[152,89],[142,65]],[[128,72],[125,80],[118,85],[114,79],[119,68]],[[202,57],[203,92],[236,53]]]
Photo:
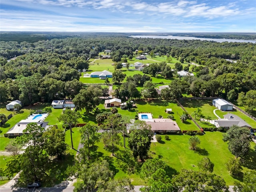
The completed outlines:
[[[196,76],[172,81],[168,94],[164,95],[166,99],[185,93],[193,96],[222,96],[234,101],[239,94],[238,99],[241,104],[248,106],[248,112],[256,106],[256,44],[129,38],[125,34],[111,33],[64,35],[67,34],[47,40],[39,38],[39,41],[34,42],[40,35],[28,34],[27,37],[33,40],[0,42],[1,102],[20,99],[24,104],[31,104],[74,98],[82,88],[79,71],[89,68],[89,58],[109,49],[115,62],[134,56],[135,50],[141,50],[177,58],[182,63],[199,64],[192,67]],[[10,60],[14,57],[17,58]],[[160,65],[152,65],[144,73],[155,75],[154,71],[161,70],[164,68]]]

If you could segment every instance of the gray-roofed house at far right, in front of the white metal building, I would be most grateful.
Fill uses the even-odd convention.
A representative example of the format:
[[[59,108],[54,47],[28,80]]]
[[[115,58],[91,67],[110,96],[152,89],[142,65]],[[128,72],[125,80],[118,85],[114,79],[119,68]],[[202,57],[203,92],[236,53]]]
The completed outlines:
[[[246,127],[248,129],[252,128],[252,126],[247,122],[245,122],[245,120],[231,113],[224,115],[224,119],[215,120],[214,125],[217,128],[224,127],[225,129],[229,129],[233,125],[236,125],[239,127]]]

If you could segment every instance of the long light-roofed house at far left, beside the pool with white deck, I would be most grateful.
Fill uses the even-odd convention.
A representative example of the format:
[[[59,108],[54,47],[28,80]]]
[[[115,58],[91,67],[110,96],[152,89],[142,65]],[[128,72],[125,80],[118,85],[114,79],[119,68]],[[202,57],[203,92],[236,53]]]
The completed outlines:
[[[28,126],[28,124],[30,124],[32,122],[36,123],[38,126],[45,128],[45,130],[46,130],[48,122],[37,122],[37,121],[38,120],[20,121],[16,125],[14,125],[12,128],[10,128],[10,130],[8,130],[8,132],[6,132],[4,134],[4,137],[15,138],[15,137],[23,135],[24,134],[23,130],[25,130],[26,127]]]

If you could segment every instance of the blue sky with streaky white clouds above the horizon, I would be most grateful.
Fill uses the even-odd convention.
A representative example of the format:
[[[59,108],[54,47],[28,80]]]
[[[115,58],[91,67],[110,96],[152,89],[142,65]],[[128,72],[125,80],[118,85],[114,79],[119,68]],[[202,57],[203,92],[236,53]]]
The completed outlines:
[[[0,0],[0,31],[256,32],[256,0]]]

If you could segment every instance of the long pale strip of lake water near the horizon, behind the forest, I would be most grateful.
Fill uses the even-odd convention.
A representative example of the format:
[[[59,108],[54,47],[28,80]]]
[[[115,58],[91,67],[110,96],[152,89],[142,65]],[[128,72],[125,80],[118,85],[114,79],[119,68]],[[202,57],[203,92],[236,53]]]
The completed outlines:
[[[237,39],[213,39],[213,38],[198,38],[198,37],[187,37],[187,36],[148,36],[148,35],[137,35],[130,36],[133,38],[160,38],[160,39],[178,39],[178,40],[206,40],[216,42],[239,42],[239,43],[256,43],[255,40],[237,40]]]

